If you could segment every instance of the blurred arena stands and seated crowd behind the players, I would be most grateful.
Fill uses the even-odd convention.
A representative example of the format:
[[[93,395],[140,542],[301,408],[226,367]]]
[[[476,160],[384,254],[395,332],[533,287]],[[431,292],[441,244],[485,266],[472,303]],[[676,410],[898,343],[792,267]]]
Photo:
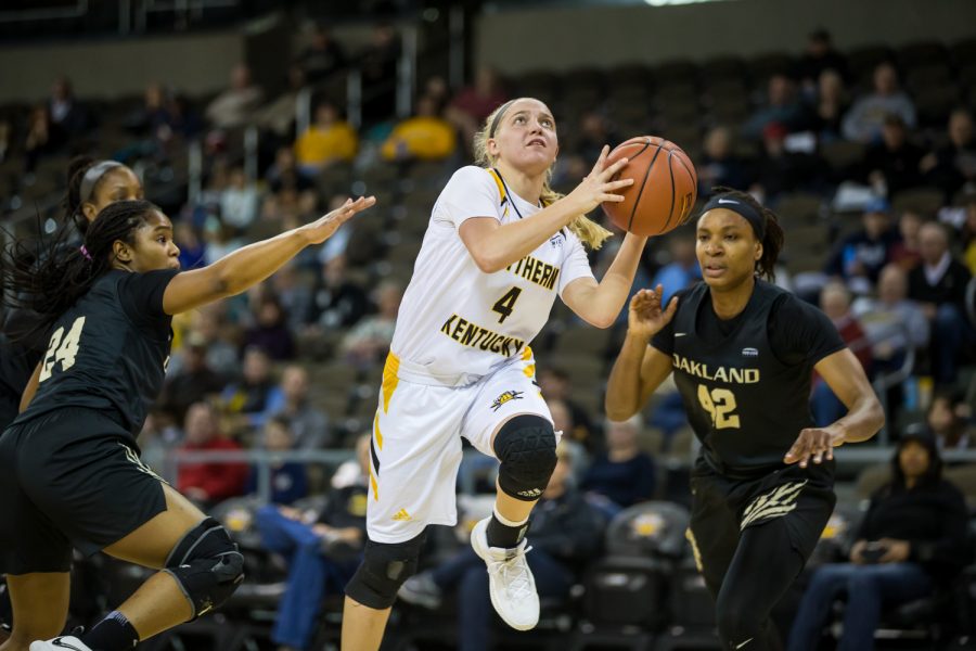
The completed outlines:
[[[248,578],[214,616],[140,649],[338,648],[365,507],[356,450],[400,296],[475,129],[522,95],[556,117],[556,189],[604,143],[656,135],[694,161],[699,203],[722,184],[772,207],[787,241],[778,282],[824,309],[885,405],[885,430],[837,452],[837,511],[781,603],[784,638],[810,574],[847,558],[912,442],[934,442],[929,465],[940,457],[976,507],[973,2],[7,0],[3,238],[64,224],[76,155],[136,170],[184,268],[350,194],[380,202],[247,295],[174,320],[140,445],[235,532]],[[592,254],[598,277],[620,240]],[[696,282],[692,227],[654,239],[642,263],[635,289]],[[434,527],[385,649],[718,648],[683,535],[696,444],[681,401],[671,386],[627,423],[603,414],[625,328],[626,310],[595,330],[557,302],[532,344],[565,441],[530,535],[558,569],[538,629],[508,630],[459,563],[495,485],[493,462],[471,450],[460,524]],[[843,413],[818,379],[811,410],[819,423]],[[885,602],[878,648],[976,648],[976,526],[945,524],[933,540],[967,532],[952,572],[926,565],[922,599]],[[73,625],[145,576],[78,561]],[[830,608],[823,649],[843,630],[843,603]]]

